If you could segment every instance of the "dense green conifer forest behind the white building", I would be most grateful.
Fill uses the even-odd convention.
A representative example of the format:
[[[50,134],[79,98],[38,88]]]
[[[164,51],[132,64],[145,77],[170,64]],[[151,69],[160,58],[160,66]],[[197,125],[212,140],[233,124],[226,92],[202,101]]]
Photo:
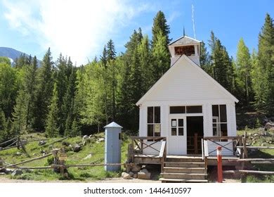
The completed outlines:
[[[258,49],[249,51],[242,38],[233,58],[218,35],[209,32],[200,61],[203,70],[240,100],[237,108],[274,115],[273,19],[266,14],[261,22]],[[13,66],[0,57],[0,141],[27,132],[77,136],[100,131],[113,120],[137,131],[135,103],[169,69],[169,42],[169,25],[159,11],[151,39],[141,28],[133,30],[124,53],[117,53],[110,39],[100,57],[80,67],[62,53],[53,61],[51,49],[41,66],[36,56],[20,56]]]

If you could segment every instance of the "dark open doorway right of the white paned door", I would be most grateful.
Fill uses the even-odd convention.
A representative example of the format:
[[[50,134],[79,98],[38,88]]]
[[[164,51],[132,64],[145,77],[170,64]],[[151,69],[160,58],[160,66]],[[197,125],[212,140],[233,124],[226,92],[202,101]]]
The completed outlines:
[[[186,117],[187,153],[202,153],[202,138],[204,137],[204,119],[202,116]]]

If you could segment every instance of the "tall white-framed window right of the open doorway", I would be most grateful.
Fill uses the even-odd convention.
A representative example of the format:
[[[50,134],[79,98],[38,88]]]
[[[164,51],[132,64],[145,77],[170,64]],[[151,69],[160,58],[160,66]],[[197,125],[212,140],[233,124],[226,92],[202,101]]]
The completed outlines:
[[[226,105],[212,105],[213,136],[228,136]]]

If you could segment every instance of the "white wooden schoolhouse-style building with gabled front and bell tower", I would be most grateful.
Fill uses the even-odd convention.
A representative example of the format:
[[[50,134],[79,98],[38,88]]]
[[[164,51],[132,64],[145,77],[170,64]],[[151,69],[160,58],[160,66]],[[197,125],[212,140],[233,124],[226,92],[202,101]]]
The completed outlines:
[[[171,68],[136,103],[139,136],[166,136],[167,155],[200,154],[205,136],[236,136],[238,100],[200,68],[200,41],[183,36],[169,44],[169,51]],[[160,144],[153,146],[159,149]],[[209,144],[211,155],[216,146]],[[223,150],[223,155],[230,154]]]

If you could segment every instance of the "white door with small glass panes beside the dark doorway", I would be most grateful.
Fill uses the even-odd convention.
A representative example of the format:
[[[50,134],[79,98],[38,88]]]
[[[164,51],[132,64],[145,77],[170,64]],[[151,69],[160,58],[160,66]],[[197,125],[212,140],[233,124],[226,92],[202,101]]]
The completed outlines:
[[[169,139],[167,141],[169,155],[186,155],[186,117],[169,115]]]

